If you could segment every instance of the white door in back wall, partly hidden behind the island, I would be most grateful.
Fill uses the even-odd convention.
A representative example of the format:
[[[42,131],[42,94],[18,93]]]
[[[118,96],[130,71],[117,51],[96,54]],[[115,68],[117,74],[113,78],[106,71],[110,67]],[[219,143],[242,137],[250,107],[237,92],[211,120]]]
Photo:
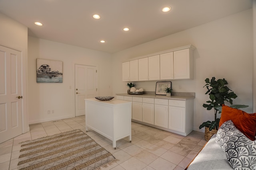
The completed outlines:
[[[75,64],[76,116],[85,115],[84,99],[97,95],[96,66]]]

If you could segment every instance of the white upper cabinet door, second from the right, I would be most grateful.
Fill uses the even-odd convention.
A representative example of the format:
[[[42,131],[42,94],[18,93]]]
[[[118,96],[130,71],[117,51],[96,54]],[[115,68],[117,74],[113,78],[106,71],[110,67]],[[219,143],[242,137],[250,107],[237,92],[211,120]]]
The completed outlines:
[[[173,52],[160,54],[160,80],[173,78]]]

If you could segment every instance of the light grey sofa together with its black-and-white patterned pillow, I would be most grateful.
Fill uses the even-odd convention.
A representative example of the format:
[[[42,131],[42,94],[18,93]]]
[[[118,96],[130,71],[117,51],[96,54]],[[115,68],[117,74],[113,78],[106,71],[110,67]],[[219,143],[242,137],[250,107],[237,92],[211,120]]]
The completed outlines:
[[[255,138],[255,137],[254,137]],[[256,170],[256,141],[225,121],[187,170]]]

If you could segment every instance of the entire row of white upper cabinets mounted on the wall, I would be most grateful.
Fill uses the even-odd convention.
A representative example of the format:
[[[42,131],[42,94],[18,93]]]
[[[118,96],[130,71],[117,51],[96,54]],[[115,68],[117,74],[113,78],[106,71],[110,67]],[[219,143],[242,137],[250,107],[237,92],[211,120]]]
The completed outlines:
[[[194,78],[195,47],[186,45],[122,63],[122,80],[175,80]]]

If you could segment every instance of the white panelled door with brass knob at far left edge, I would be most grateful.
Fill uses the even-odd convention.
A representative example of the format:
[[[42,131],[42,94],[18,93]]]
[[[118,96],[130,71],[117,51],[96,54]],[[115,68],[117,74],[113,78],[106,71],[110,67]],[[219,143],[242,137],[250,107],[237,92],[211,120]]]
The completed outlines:
[[[22,134],[21,53],[0,46],[0,143]]]

